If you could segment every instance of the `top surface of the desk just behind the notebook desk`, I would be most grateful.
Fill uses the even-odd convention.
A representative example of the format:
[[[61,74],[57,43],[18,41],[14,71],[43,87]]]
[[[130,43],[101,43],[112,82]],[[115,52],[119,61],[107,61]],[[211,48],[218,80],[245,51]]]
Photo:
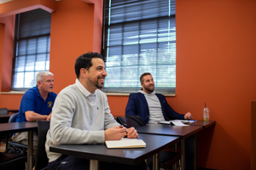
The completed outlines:
[[[166,124],[150,124],[144,127],[136,127],[137,133],[160,134],[167,136],[177,136],[185,139],[203,129],[202,126],[173,126]]]

